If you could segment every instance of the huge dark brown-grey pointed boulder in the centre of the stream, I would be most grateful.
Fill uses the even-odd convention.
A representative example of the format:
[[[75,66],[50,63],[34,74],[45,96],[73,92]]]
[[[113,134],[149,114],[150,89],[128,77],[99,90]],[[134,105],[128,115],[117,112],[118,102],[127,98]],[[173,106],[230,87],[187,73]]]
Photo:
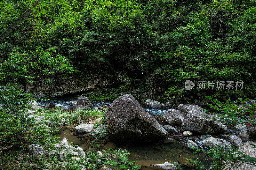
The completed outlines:
[[[161,140],[167,134],[131,94],[117,98],[105,116],[109,135],[119,142],[151,142]]]

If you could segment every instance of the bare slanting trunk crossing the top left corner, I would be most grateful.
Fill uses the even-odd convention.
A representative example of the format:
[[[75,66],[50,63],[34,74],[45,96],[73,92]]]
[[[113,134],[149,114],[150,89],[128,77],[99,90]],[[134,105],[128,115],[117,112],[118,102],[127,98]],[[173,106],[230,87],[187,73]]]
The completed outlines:
[[[4,40],[4,38],[22,21],[24,17],[26,17],[42,0],[37,0],[32,6],[30,6],[14,23],[7,28],[2,35],[0,35],[0,42]]]

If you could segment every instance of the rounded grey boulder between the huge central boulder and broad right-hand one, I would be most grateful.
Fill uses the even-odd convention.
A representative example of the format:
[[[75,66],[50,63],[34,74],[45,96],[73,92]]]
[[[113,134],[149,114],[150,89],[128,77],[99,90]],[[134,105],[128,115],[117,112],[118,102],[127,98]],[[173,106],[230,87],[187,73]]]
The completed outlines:
[[[163,115],[164,121],[173,126],[181,126],[184,116],[176,109],[169,109]]]

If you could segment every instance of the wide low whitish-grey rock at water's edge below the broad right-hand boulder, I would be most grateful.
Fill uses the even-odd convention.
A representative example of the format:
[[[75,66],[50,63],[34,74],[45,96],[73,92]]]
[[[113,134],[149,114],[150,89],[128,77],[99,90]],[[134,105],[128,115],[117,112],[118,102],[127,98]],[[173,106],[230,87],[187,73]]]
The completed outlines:
[[[210,148],[210,146],[212,148],[216,147],[216,145],[220,145],[222,147],[225,147],[226,150],[228,150],[230,148],[230,146],[228,145],[232,145],[230,142],[224,140],[224,139],[220,139],[220,138],[214,138],[214,137],[207,137],[206,139],[203,140],[203,145],[204,147]]]

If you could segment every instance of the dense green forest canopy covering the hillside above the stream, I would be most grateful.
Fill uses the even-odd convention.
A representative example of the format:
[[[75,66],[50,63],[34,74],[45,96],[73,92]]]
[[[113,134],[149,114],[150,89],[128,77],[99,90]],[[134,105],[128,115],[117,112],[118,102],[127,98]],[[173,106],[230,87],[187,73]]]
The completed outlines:
[[[0,2],[0,33],[33,4]],[[254,98],[255,5],[252,0],[43,0],[0,43],[1,64],[40,47],[56,50],[52,56],[66,56],[77,78],[97,74],[111,79],[123,71],[148,89],[152,82],[166,85],[168,96],[185,91],[188,79],[244,81],[243,90],[208,93]],[[41,66],[49,70],[46,63]],[[1,74],[10,71],[4,69]],[[47,78],[38,71],[34,80]],[[70,74],[64,69],[54,78]]]

